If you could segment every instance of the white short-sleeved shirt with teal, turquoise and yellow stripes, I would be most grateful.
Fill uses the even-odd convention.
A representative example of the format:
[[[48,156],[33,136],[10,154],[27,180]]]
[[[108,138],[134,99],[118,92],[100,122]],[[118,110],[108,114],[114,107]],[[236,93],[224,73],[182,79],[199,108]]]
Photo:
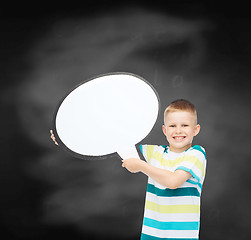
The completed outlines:
[[[191,173],[177,189],[166,188],[148,178],[141,240],[199,239],[200,196],[206,171],[206,153],[195,145],[182,153],[168,146],[140,145],[145,160],[171,172]]]

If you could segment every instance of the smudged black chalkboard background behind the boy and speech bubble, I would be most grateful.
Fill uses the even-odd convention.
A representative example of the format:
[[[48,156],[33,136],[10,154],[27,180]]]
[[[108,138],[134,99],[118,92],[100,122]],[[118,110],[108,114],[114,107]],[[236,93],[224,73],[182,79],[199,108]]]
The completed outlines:
[[[121,168],[117,155],[73,158],[49,134],[69,89],[118,71],[149,81],[162,112],[177,98],[197,107],[194,144],[208,158],[200,239],[250,237],[250,17],[236,4],[1,6],[4,239],[139,239],[146,176]],[[166,143],[162,123],[143,143]]]

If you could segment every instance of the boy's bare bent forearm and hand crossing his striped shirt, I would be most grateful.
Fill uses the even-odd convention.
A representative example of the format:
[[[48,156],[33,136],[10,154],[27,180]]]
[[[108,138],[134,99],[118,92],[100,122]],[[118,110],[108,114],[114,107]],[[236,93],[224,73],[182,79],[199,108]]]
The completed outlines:
[[[143,160],[137,158],[129,158],[122,161],[122,167],[125,167],[132,173],[142,172],[148,177],[154,179],[159,184],[170,188],[176,189],[181,186],[192,175],[189,172],[183,170],[176,170],[171,172],[168,170],[153,167]]]

